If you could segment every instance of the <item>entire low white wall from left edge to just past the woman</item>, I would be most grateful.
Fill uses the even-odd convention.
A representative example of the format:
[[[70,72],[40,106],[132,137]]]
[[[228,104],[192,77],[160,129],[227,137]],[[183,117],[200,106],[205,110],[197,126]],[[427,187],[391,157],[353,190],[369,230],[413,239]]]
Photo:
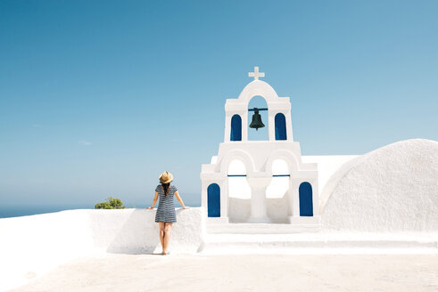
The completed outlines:
[[[0,291],[83,255],[161,252],[155,212],[84,209],[0,219]],[[177,208],[177,221],[169,250],[196,252],[205,231],[203,209]]]

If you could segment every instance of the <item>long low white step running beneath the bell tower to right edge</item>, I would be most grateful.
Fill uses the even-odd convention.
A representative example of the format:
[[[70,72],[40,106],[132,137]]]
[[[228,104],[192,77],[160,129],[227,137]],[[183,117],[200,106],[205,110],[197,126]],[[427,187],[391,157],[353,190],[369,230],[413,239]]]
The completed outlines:
[[[207,234],[200,252],[252,253],[438,253],[438,236],[376,234]]]

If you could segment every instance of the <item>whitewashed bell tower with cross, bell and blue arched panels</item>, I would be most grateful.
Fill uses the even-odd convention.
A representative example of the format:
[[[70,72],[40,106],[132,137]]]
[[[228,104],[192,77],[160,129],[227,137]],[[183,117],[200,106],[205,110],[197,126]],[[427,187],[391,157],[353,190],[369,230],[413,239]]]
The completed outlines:
[[[293,141],[291,102],[278,97],[264,73],[255,67],[254,80],[236,99],[225,103],[224,142],[218,156],[203,164],[202,207],[207,225],[273,223],[315,227],[319,225],[318,165],[303,163],[300,143]],[[262,97],[268,112],[263,121],[268,140],[250,141],[248,114],[253,97]],[[257,119],[257,118],[256,118]],[[266,224],[265,224],[266,225]]]

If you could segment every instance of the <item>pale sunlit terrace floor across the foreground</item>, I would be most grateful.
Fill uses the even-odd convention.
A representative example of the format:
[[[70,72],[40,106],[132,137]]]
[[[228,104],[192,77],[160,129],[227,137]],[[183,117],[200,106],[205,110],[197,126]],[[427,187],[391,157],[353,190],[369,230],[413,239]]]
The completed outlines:
[[[105,254],[11,291],[432,292],[437,275],[438,255]]]

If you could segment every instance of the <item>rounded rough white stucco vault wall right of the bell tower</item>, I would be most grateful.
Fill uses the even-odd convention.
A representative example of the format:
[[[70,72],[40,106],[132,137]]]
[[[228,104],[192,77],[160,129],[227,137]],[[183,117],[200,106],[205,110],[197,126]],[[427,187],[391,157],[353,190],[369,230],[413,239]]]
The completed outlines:
[[[338,183],[322,198],[325,230],[438,231],[438,142],[395,142],[334,176]]]

